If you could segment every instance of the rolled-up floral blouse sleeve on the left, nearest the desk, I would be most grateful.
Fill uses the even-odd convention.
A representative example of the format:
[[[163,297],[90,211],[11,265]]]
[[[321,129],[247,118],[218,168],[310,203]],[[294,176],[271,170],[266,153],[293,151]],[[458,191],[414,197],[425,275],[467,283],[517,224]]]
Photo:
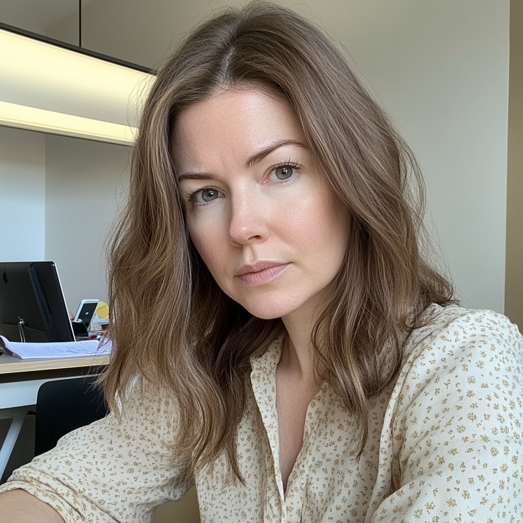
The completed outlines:
[[[55,508],[66,523],[150,521],[155,507],[191,486],[166,445],[173,405],[139,380],[114,414],[72,431],[15,470],[0,493],[21,488]]]

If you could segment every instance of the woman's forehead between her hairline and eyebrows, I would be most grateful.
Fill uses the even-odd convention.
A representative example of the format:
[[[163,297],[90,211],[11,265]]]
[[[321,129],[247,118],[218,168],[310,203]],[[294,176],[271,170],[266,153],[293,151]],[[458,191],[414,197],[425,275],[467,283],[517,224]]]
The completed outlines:
[[[180,112],[173,160],[191,169],[223,163],[223,158],[244,161],[279,140],[303,142],[298,118],[285,98],[257,87],[224,89]]]

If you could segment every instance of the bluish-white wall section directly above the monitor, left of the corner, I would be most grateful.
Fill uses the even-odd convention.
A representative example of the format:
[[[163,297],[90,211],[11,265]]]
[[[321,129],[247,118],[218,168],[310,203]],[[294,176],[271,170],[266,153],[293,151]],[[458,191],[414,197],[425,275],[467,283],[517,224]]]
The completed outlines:
[[[43,260],[46,136],[0,127],[0,261]]]

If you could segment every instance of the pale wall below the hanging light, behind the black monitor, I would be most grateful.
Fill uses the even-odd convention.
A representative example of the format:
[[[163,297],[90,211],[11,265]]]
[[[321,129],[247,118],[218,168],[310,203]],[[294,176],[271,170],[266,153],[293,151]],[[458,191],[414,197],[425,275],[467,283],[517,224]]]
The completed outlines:
[[[107,301],[106,240],[129,147],[0,127],[0,261],[55,261],[65,300]]]

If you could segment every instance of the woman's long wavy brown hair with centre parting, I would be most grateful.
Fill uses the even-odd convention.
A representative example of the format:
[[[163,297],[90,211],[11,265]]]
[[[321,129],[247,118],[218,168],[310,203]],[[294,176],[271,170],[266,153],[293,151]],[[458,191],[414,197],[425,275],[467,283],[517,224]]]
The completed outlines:
[[[192,31],[157,71],[141,117],[109,254],[113,354],[103,381],[113,408],[137,373],[172,395],[177,457],[195,470],[225,452],[240,479],[249,358],[285,327],[248,313],[214,282],[187,233],[169,141],[180,111],[242,84],[285,96],[351,215],[312,343],[320,377],[359,422],[360,453],[369,399],[397,376],[406,336],[430,303],[453,302],[450,283],[422,254],[418,164],[324,33],[292,10],[257,2]]]

